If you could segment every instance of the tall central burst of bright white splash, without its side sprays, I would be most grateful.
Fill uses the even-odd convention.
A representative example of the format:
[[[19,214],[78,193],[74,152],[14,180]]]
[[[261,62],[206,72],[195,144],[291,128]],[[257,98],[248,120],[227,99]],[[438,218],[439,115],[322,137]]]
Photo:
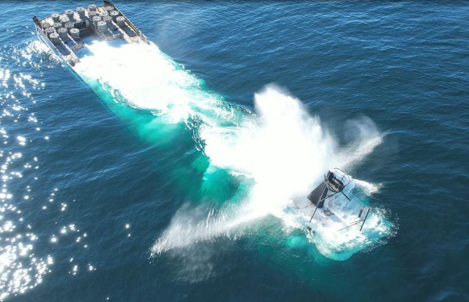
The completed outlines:
[[[299,100],[269,86],[255,95],[259,120],[233,129],[204,125],[205,153],[214,165],[256,180],[252,199],[260,211],[282,206],[292,193],[306,193],[330,164],[335,142]]]

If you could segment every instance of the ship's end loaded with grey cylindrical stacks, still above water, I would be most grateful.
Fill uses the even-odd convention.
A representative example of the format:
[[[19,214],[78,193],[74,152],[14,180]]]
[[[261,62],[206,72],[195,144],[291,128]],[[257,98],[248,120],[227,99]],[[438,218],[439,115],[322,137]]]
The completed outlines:
[[[52,13],[42,20],[33,17],[39,40],[80,80],[75,66],[90,54],[88,46],[93,41],[154,45],[114,4],[103,2],[102,6],[89,4]]]

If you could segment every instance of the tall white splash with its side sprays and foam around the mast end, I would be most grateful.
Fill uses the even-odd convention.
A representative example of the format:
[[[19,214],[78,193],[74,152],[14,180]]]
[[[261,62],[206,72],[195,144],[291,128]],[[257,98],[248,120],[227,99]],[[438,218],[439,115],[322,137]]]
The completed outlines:
[[[355,164],[382,141],[374,128],[361,128],[359,140],[338,148],[321,127],[319,118],[309,116],[298,99],[275,86],[256,93],[255,102],[258,119],[251,117],[240,126],[229,128],[205,124],[200,130],[205,153],[213,165],[238,178],[254,180],[248,198],[235,209],[222,208],[218,216],[209,215],[197,224],[187,223],[192,215],[178,215],[153,245],[152,253],[217,236],[230,238],[233,232],[240,236],[249,224],[268,215],[278,218],[287,229],[304,228],[303,219],[290,211],[292,200],[307,195],[329,167]],[[356,180],[354,184],[368,187],[368,193],[377,191],[376,186],[365,181]],[[335,205],[339,212],[351,210],[349,204]],[[358,213],[360,204],[355,206],[358,208],[354,212]],[[320,228],[310,240],[323,255],[343,260],[369,247],[387,231],[383,213],[374,213],[363,233]]]

